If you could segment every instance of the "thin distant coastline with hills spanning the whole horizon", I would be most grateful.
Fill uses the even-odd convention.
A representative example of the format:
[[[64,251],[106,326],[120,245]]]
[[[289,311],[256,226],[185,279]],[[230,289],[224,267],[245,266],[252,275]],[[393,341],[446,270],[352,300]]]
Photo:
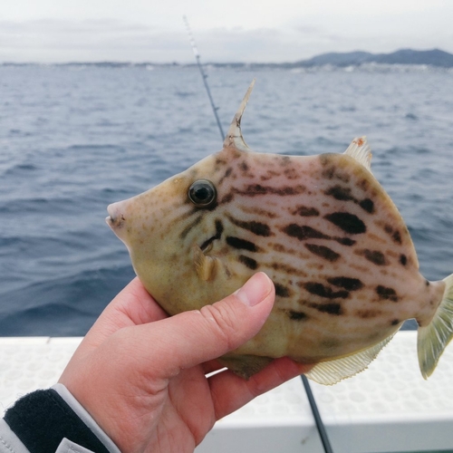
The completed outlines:
[[[24,65],[31,63],[0,63],[0,65]],[[130,63],[130,62],[70,62],[70,63],[36,63],[43,65],[84,65],[84,66],[106,66],[106,67],[125,67],[125,66],[195,66],[196,63]],[[363,51],[347,53],[322,53],[313,56],[308,60],[300,60],[294,63],[215,63],[208,62],[205,65],[226,68],[275,68],[275,69],[310,69],[323,66],[336,68],[361,67],[367,64],[381,65],[423,65],[437,68],[453,68],[453,54],[439,49],[429,51],[417,51],[412,49],[400,49],[392,53],[370,53]]]

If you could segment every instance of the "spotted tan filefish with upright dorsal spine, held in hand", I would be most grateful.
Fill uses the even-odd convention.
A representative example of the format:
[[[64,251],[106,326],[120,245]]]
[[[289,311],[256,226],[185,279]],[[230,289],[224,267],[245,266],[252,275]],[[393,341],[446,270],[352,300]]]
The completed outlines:
[[[254,83],[220,151],[107,208],[140,281],[175,315],[265,272],[272,312],[219,358],[246,379],[287,356],[314,364],[309,379],[333,384],[365,370],[407,319],[418,323],[427,379],[453,334],[453,275],[430,282],[419,273],[408,227],[371,173],[366,137],[343,153],[250,149],[241,119]]]

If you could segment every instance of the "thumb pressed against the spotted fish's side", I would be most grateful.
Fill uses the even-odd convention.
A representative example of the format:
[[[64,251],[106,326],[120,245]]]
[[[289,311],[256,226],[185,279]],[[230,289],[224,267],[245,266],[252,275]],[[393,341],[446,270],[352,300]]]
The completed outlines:
[[[159,361],[162,378],[177,374],[232,351],[261,329],[272,310],[274,284],[264,273],[255,274],[236,293],[201,310],[179,313],[150,323],[154,338],[165,338],[159,352],[148,360]],[[159,327],[158,327],[159,325]],[[164,329],[157,332],[156,328]],[[149,363],[150,364],[150,363]]]

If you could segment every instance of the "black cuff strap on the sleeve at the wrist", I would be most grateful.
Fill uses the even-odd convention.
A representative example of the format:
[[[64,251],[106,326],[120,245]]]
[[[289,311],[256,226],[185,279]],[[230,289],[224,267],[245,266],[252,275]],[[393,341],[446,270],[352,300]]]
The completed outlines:
[[[5,421],[31,453],[55,451],[63,438],[95,453],[109,453],[56,390],[36,390],[5,412]]]

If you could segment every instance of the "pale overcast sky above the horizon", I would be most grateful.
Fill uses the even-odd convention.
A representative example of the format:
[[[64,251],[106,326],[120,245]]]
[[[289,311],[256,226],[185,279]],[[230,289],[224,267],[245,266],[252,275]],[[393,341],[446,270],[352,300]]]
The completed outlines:
[[[2,62],[295,62],[327,52],[453,53],[453,0],[3,0]]]

